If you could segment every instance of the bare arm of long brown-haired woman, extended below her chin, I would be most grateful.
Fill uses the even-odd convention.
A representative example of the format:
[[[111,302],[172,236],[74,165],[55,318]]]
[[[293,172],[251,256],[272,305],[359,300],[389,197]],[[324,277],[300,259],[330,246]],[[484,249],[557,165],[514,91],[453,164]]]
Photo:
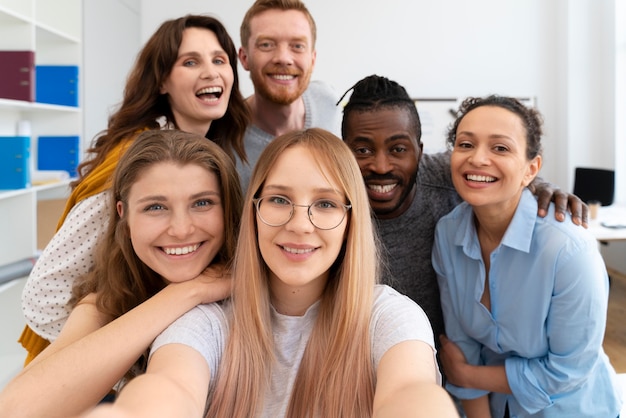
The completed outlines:
[[[66,417],[92,408],[170,323],[229,293],[226,276],[199,276],[168,285],[108,324],[95,295],[87,296],[59,338],[0,393],[3,417]]]

